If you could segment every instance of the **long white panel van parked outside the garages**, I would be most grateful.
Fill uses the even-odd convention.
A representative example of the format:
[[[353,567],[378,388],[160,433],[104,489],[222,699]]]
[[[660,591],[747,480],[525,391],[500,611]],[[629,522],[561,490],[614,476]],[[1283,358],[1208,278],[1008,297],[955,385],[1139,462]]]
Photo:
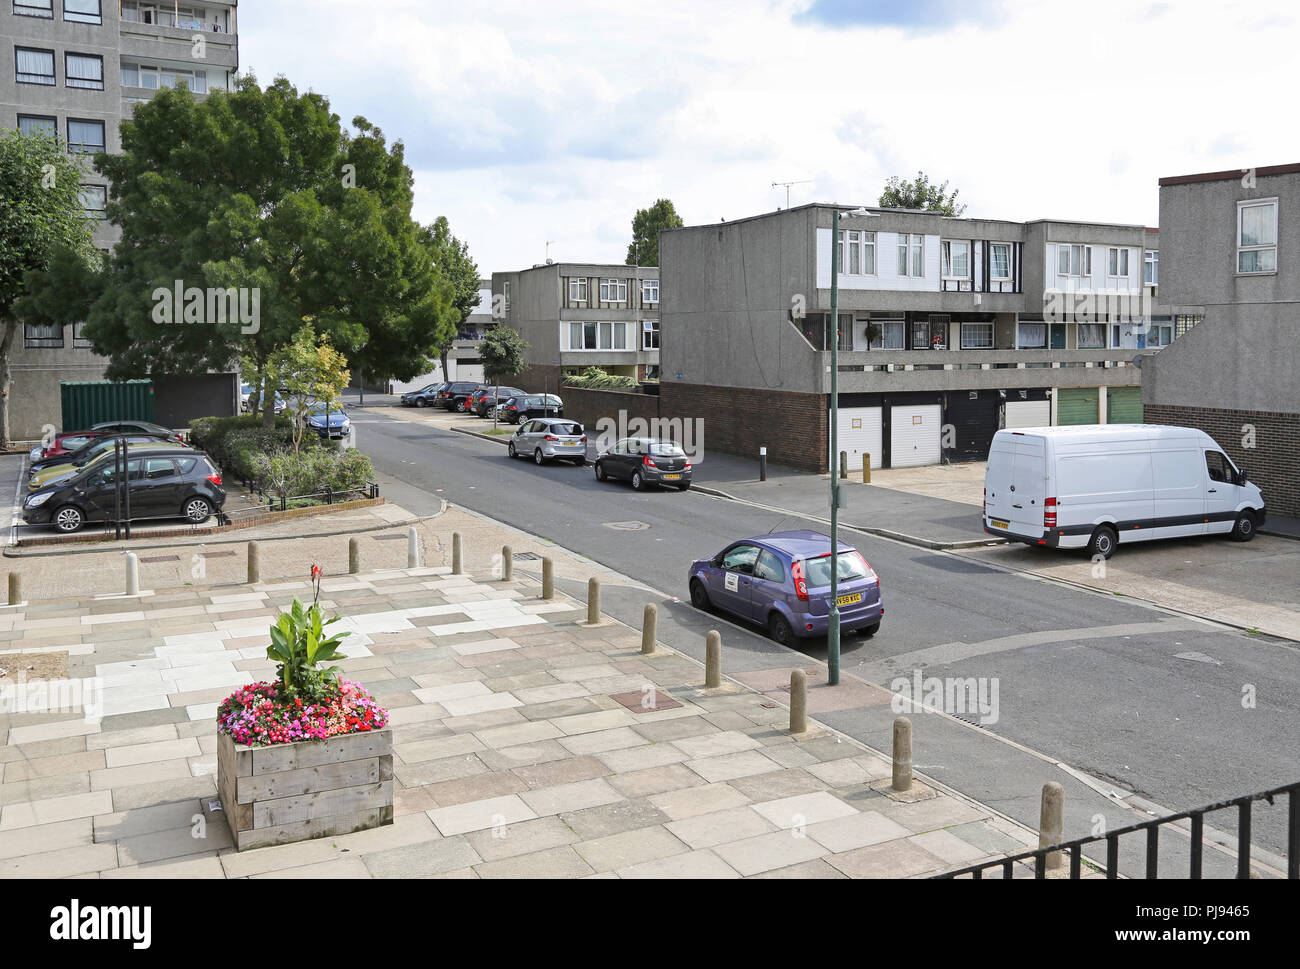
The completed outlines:
[[[1230,535],[1249,541],[1264,496],[1209,434],[1158,424],[998,431],[984,531],[1110,558],[1117,542]]]

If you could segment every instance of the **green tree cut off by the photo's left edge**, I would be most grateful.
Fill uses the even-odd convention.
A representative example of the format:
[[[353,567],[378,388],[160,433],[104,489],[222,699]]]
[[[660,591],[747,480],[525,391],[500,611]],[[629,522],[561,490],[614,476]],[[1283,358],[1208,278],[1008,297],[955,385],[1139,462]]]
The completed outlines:
[[[14,334],[23,323],[46,321],[20,307],[25,278],[47,271],[56,256],[79,272],[98,261],[81,199],[83,177],[49,135],[0,129],[0,442],[6,446]]]

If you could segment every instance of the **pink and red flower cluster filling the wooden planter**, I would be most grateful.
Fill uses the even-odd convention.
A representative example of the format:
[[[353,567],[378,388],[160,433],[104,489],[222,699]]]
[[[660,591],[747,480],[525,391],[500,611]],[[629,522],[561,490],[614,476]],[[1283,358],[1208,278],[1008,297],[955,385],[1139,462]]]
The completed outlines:
[[[338,691],[322,702],[289,700],[280,683],[250,683],[217,708],[217,732],[248,747],[324,740],[389,726],[389,711],[360,683],[339,680]]]

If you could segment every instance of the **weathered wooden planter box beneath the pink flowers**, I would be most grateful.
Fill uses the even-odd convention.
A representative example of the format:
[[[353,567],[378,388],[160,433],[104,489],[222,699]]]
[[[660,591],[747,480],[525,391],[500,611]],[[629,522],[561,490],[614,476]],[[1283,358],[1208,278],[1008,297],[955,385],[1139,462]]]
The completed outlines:
[[[217,792],[239,851],[393,823],[393,730],[274,747],[217,734]]]

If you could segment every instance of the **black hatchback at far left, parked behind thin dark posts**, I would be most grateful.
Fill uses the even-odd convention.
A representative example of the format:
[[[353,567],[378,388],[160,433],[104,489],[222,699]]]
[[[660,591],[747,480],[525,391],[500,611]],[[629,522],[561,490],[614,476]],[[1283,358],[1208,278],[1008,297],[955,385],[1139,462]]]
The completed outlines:
[[[109,462],[32,492],[22,503],[22,520],[53,524],[60,532],[75,532],[87,522],[112,522],[117,515],[116,475]],[[203,524],[226,502],[221,472],[203,451],[140,447],[131,451],[126,476],[133,522],[183,518]]]

